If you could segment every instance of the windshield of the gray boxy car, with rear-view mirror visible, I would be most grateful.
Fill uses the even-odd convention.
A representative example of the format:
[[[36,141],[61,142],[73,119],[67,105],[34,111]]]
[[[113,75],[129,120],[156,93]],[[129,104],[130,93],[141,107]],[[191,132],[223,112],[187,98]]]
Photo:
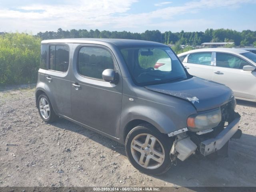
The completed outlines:
[[[166,46],[120,48],[136,84],[162,84],[187,78],[182,64]]]

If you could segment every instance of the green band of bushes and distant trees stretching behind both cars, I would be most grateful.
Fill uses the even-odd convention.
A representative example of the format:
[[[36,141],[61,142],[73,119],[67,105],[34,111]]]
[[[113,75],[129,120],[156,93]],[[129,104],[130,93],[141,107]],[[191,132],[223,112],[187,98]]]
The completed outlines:
[[[235,42],[236,46],[256,46],[256,31],[237,32],[229,29],[207,29],[205,32],[164,32],[146,30],[143,33],[110,32],[99,30],[62,30],[26,33],[0,32],[0,87],[5,84],[36,82],[40,63],[40,42],[54,38],[126,38],[175,44],[172,50],[179,54],[194,49],[203,42]],[[189,45],[181,48],[180,44]]]

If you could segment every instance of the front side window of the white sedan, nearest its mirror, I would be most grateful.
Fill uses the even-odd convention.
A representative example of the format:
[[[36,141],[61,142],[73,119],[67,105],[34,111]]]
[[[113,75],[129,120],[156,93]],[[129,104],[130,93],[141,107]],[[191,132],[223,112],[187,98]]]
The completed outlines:
[[[245,65],[250,65],[245,60],[228,53],[216,53],[216,65],[219,67],[242,69]]]

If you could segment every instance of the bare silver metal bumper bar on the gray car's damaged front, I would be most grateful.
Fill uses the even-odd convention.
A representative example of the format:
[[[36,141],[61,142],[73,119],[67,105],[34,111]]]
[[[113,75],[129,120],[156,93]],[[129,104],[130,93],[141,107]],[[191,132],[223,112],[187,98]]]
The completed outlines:
[[[220,134],[218,134],[215,138],[210,138],[204,142],[201,142],[201,154],[207,156],[215,151],[220,150],[238,130],[239,121],[240,115],[237,113],[236,118],[230,122],[230,124],[228,124],[228,126],[226,126],[226,128],[220,132]]]

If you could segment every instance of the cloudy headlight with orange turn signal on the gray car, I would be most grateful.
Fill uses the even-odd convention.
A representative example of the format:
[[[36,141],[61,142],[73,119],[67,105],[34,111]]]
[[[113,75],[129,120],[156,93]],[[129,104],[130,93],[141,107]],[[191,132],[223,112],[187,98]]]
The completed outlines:
[[[216,127],[221,121],[220,109],[194,114],[188,117],[187,125],[191,131],[197,132]]]

